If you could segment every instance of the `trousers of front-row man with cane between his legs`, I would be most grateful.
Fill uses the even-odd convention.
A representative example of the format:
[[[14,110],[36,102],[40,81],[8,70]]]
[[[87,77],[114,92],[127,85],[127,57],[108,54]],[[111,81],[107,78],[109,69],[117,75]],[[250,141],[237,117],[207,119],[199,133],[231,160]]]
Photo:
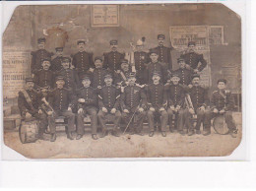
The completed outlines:
[[[133,112],[132,113],[125,113],[125,112],[122,113],[122,118],[126,125],[128,125],[132,115],[133,115]],[[131,121],[129,124],[130,130],[135,129],[137,133],[140,133],[143,128],[143,121],[145,119],[145,116],[146,116],[146,111],[142,111],[142,112],[136,111],[136,113],[134,114],[134,117],[136,117],[136,125]],[[134,120],[134,119],[132,119],[132,120]]]

